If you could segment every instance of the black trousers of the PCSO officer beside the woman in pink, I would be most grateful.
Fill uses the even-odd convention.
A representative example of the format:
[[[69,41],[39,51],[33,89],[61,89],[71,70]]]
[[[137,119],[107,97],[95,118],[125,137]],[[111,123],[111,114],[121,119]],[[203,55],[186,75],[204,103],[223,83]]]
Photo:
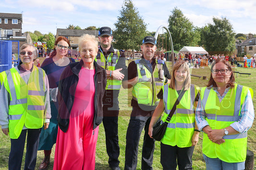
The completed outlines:
[[[104,116],[103,126],[106,136],[106,148],[109,155],[110,167],[119,166],[120,147],[118,144],[118,116]]]

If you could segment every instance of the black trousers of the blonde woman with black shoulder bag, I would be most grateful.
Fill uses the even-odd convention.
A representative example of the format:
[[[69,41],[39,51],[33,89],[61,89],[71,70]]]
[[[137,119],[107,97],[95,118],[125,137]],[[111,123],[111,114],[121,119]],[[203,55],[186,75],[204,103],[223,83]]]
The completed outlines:
[[[161,142],[160,162],[163,170],[176,170],[177,162],[179,170],[192,170],[192,155],[194,147],[172,147]],[[177,159],[177,160],[176,160]]]

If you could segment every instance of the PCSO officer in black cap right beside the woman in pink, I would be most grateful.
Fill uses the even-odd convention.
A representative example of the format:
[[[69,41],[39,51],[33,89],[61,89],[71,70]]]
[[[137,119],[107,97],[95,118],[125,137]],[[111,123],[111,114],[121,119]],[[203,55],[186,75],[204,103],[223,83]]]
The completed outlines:
[[[101,27],[98,31],[100,47],[97,63],[106,69],[107,87],[103,97],[103,125],[106,135],[106,147],[109,155],[109,166],[112,170],[120,170],[118,144],[118,95],[126,71],[124,52],[113,48],[112,30],[110,27]]]

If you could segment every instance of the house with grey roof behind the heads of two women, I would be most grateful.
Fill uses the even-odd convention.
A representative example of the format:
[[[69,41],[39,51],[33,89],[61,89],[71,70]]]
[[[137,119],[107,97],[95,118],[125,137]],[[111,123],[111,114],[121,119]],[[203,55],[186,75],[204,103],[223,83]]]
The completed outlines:
[[[57,28],[56,39],[59,36],[66,37],[71,45],[71,49],[76,49],[78,47],[79,37],[83,34],[95,35],[98,40],[98,30],[72,30],[72,29],[61,29]]]

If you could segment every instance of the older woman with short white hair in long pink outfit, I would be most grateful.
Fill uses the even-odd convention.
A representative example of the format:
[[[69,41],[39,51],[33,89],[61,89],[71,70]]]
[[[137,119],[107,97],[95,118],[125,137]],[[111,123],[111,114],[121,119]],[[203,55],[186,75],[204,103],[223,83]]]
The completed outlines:
[[[94,170],[98,125],[102,122],[102,98],[106,70],[95,57],[98,41],[85,34],[80,38],[81,61],[71,63],[59,81],[58,136],[54,170]]]

